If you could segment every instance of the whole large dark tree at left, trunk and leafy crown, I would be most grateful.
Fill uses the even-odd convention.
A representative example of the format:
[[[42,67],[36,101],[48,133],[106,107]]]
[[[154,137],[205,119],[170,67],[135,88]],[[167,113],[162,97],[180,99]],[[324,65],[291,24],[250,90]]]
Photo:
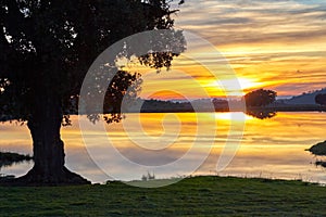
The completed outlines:
[[[27,122],[35,159],[33,169],[17,182],[88,183],[64,166],[61,126],[70,124],[83,79],[104,49],[139,31],[173,30],[171,14],[175,11],[168,2],[1,0],[0,118]],[[128,51],[126,43],[116,56],[135,56]],[[138,58],[140,63],[160,68],[170,67],[175,55],[166,52]],[[138,78],[138,74],[124,71],[114,77],[105,95],[112,105],[104,105],[112,113],[108,123],[120,119],[116,104]]]

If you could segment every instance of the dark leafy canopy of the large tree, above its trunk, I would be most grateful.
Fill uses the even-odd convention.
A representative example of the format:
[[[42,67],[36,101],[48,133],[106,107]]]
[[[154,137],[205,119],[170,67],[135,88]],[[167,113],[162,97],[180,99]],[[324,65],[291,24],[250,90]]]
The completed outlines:
[[[104,49],[139,31],[172,29],[173,12],[165,0],[2,0],[1,116],[28,120],[35,95],[45,91],[58,95],[65,112]],[[123,52],[126,58],[133,54],[128,49]],[[172,61],[139,58],[154,67],[170,66]],[[137,76],[121,72],[117,79],[130,82]]]

